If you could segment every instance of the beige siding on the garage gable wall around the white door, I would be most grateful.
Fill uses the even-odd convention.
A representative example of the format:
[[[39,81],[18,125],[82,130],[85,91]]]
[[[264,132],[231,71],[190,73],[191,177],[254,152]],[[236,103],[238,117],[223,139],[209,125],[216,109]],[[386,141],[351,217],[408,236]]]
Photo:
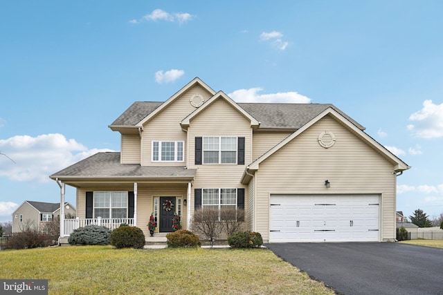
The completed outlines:
[[[334,146],[318,144],[322,131],[332,131]],[[260,164],[255,173],[256,226],[269,239],[269,196],[291,194],[358,194],[381,196],[381,240],[395,238],[395,175],[393,164],[359,137],[324,117]],[[325,187],[329,180],[331,187]]]

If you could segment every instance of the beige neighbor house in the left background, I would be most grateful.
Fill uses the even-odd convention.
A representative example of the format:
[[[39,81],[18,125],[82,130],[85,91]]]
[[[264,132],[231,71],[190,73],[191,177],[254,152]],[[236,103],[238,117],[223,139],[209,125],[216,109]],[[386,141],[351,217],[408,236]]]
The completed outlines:
[[[75,216],[75,208],[64,203],[65,214]],[[32,225],[39,231],[44,231],[45,222],[53,221],[60,215],[60,203],[25,201],[12,213],[12,232],[19,232],[26,225]]]

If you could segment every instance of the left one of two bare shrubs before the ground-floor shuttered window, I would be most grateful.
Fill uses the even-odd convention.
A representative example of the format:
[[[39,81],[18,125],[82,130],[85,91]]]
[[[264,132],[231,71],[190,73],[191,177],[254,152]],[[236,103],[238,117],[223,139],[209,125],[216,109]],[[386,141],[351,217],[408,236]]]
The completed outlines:
[[[192,218],[192,230],[202,234],[210,242],[210,247],[213,247],[215,239],[223,231],[223,225],[219,222],[219,210],[197,209]]]

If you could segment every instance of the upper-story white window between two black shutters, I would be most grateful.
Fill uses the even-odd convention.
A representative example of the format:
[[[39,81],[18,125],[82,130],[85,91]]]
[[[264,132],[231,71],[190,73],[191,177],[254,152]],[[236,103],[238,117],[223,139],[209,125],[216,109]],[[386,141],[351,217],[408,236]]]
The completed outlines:
[[[203,137],[203,164],[236,164],[237,137]]]

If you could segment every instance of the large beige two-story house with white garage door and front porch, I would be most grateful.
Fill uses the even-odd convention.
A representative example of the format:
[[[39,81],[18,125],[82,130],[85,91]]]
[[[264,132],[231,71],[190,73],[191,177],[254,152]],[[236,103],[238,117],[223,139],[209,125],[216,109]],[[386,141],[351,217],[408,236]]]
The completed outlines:
[[[120,153],[54,173],[78,220],[192,229],[205,207],[245,210],[265,242],[395,240],[396,179],[410,167],[332,104],[237,103],[198,77],[165,102],[135,102],[109,128]],[[170,205],[172,204],[172,205]]]

